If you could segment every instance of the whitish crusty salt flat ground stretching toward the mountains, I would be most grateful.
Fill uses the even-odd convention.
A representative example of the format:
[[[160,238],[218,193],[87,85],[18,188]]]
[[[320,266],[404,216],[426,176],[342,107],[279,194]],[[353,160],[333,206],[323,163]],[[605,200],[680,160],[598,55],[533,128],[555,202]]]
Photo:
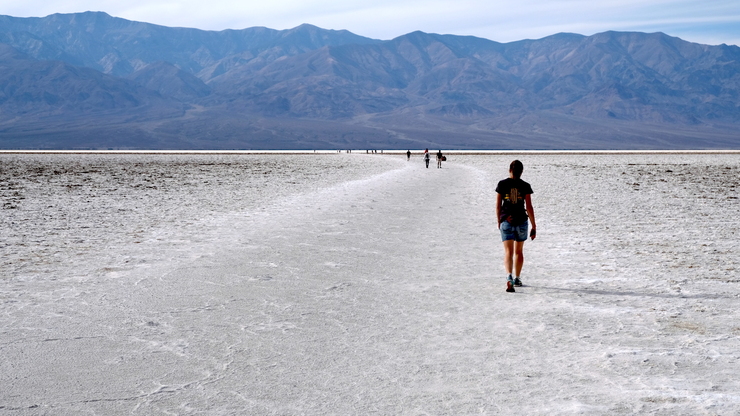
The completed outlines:
[[[303,172],[160,160],[175,178],[77,220],[129,194],[156,218],[60,233],[90,248],[16,223],[0,414],[740,412],[736,155],[520,156],[539,233],[515,294],[492,225],[512,156],[261,157]],[[4,222],[56,215],[32,177],[3,179],[26,192]],[[72,260],[42,263],[35,241]]]

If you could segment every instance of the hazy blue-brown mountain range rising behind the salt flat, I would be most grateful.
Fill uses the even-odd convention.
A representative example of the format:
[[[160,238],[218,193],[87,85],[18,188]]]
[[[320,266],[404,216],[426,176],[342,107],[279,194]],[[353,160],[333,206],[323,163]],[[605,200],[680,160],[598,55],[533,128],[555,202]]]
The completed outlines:
[[[3,149],[738,149],[740,48],[0,16]]]

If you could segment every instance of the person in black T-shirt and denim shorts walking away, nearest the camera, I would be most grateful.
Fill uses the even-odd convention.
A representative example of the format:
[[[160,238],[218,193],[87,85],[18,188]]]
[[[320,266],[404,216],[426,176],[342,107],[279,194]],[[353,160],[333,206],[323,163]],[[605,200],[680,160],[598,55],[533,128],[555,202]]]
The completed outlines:
[[[537,236],[537,223],[532,206],[532,187],[521,179],[524,165],[515,160],[509,165],[509,177],[496,186],[496,217],[504,242],[504,268],[509,276],[506,291],[514,292],[514,286],[521,286],[520,279],[524,265],[524,242],[527,241],[529,221],[532,240]],[[512,276],[512,272],[514,276]]]

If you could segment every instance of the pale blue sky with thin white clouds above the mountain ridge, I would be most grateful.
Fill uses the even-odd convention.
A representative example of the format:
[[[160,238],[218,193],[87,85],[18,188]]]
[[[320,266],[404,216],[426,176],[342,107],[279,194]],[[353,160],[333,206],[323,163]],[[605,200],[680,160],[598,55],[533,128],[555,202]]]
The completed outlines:
[[[0,14],[17,17],[88,10],[206,30],[311,23],[376,39],[422,30],[498,42],[619,30],[740,45],[740,0],[0,0]]]

